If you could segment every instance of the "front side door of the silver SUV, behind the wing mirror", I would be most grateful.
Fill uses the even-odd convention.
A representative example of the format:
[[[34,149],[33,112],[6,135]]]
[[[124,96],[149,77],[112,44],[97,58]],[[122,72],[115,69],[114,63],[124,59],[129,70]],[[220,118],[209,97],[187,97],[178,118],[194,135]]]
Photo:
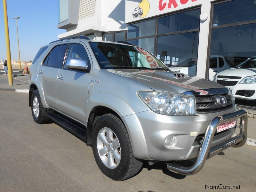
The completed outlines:
[[[57,107],[63,114],[86,124],[85,109],[88,99],[89,81],[91,77],[91,61],[84,44],[69,44],[63,69],[59,70],[57,80]],[[67,68],[69,58],[86,60],[88,71]]]

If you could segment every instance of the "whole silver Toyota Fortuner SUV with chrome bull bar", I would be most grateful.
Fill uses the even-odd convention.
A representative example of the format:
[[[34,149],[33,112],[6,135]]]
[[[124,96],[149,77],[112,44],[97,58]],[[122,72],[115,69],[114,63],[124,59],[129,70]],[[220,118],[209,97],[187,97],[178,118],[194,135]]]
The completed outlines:
[[[86,36],[52,42],[36,54],[29,84],[35,122],[53,120],[84,140],[113,180],[134,176],[143,160],[195,174],[246,141],[247,114],[229,89],[172,72],[139,47]],[[193,158],[192,166],[179,164]]]

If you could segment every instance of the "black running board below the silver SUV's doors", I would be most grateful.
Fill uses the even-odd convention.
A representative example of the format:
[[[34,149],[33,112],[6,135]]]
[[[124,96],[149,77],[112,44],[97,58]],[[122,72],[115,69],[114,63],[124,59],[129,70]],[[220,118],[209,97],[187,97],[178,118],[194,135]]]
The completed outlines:
[[[44,111],[44,115],[86,142],[86,127],[84,125],[57,112]]]

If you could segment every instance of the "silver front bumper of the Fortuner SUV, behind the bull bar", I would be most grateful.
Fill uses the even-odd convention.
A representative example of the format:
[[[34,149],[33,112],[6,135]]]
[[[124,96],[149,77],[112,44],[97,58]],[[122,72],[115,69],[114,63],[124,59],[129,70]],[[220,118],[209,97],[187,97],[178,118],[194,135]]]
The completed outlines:
[[[216,117],[235,112],[237,112],[236,106],[226,111],[198,116],[166,116],[148,110],[123,116],[122,120],[129,133],[136,158],[175,161],[197,157],[202,145],[195,141],[196,137],[205,134],[207,127]],[[210,148],[229,140],[234,132],[235,128],[229,128],[214,136],[209,144]],[[166,148],[164,139],[168,135],[174,135],[176,143]]]

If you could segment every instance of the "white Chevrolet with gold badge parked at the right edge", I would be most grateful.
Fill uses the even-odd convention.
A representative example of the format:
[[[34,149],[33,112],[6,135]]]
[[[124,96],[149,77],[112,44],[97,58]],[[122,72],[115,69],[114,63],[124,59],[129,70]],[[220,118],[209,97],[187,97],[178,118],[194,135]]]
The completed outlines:
[[[215,82],[232,90],[236,98],[256,100],[256,56],[218,73]]]

